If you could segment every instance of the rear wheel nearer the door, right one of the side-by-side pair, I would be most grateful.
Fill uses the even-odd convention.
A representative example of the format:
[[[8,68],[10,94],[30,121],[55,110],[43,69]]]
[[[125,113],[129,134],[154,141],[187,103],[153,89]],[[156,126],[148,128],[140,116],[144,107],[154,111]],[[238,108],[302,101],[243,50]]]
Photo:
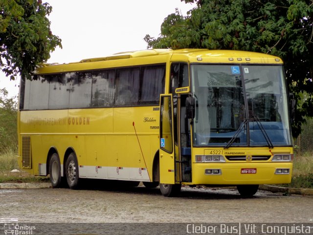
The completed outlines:
[[[67,185],[71,189],[77,189],[79,185],[79,165],[75,153],[70,153],[66,163]]]

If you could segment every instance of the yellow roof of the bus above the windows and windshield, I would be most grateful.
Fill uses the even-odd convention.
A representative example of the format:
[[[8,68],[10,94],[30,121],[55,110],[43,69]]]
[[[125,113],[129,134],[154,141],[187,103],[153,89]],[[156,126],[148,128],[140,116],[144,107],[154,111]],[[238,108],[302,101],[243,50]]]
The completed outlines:
[[[156,57],[153,57],[156,56]],[[190,63],[246,63],[246,64],[283,64],[279,57],[249,51],[238,50],[209,50],[209,49],[147,49],[127,51],[100,58],[88,58],[68,64],[43,64],[38,67],[36,74],[57,73],[65,71],[94,70],[110,67],[131,66],[127,59],[138,58],[134,65],[165,63],[172,61],[189,61]],[[140,60],[144,59],[144,60]],[[154,59],[153,59],[154,58]],[[159,59],[156,59],[159,58]],[[126,60],[125,60],[126,59]],[[123,60],[123,63],[121,60]],[[112,63],[114,62],[114,63]],[[91,66],[91,64],[94,64]]]

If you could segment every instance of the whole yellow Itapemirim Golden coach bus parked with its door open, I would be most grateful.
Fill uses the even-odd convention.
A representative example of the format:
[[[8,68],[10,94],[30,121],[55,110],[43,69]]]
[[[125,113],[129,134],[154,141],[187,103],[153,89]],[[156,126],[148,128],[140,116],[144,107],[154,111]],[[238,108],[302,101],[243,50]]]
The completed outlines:
[[[283,61],[267,54],[151,49],[45,64],[21,81],[18,135],[20,167],[53,188],[91,178],[251,196],[291,182]]]

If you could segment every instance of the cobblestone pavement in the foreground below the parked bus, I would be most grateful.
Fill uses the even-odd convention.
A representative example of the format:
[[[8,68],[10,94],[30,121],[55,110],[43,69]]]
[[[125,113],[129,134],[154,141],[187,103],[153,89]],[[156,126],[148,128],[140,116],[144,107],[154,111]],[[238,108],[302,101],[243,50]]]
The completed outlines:
[[[170,222],[313,223],[313,196],[259,190],[241,198],[231,188],[182,187],[179,197],[158,188],[0,189],[0,223]]]

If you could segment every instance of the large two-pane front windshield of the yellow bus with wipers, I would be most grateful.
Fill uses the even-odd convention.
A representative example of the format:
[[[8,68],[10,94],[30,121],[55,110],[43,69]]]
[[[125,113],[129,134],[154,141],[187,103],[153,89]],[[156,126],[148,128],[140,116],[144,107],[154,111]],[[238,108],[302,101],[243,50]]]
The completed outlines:
[[[291,145],[282,66],[191,65],[194,146]]]

